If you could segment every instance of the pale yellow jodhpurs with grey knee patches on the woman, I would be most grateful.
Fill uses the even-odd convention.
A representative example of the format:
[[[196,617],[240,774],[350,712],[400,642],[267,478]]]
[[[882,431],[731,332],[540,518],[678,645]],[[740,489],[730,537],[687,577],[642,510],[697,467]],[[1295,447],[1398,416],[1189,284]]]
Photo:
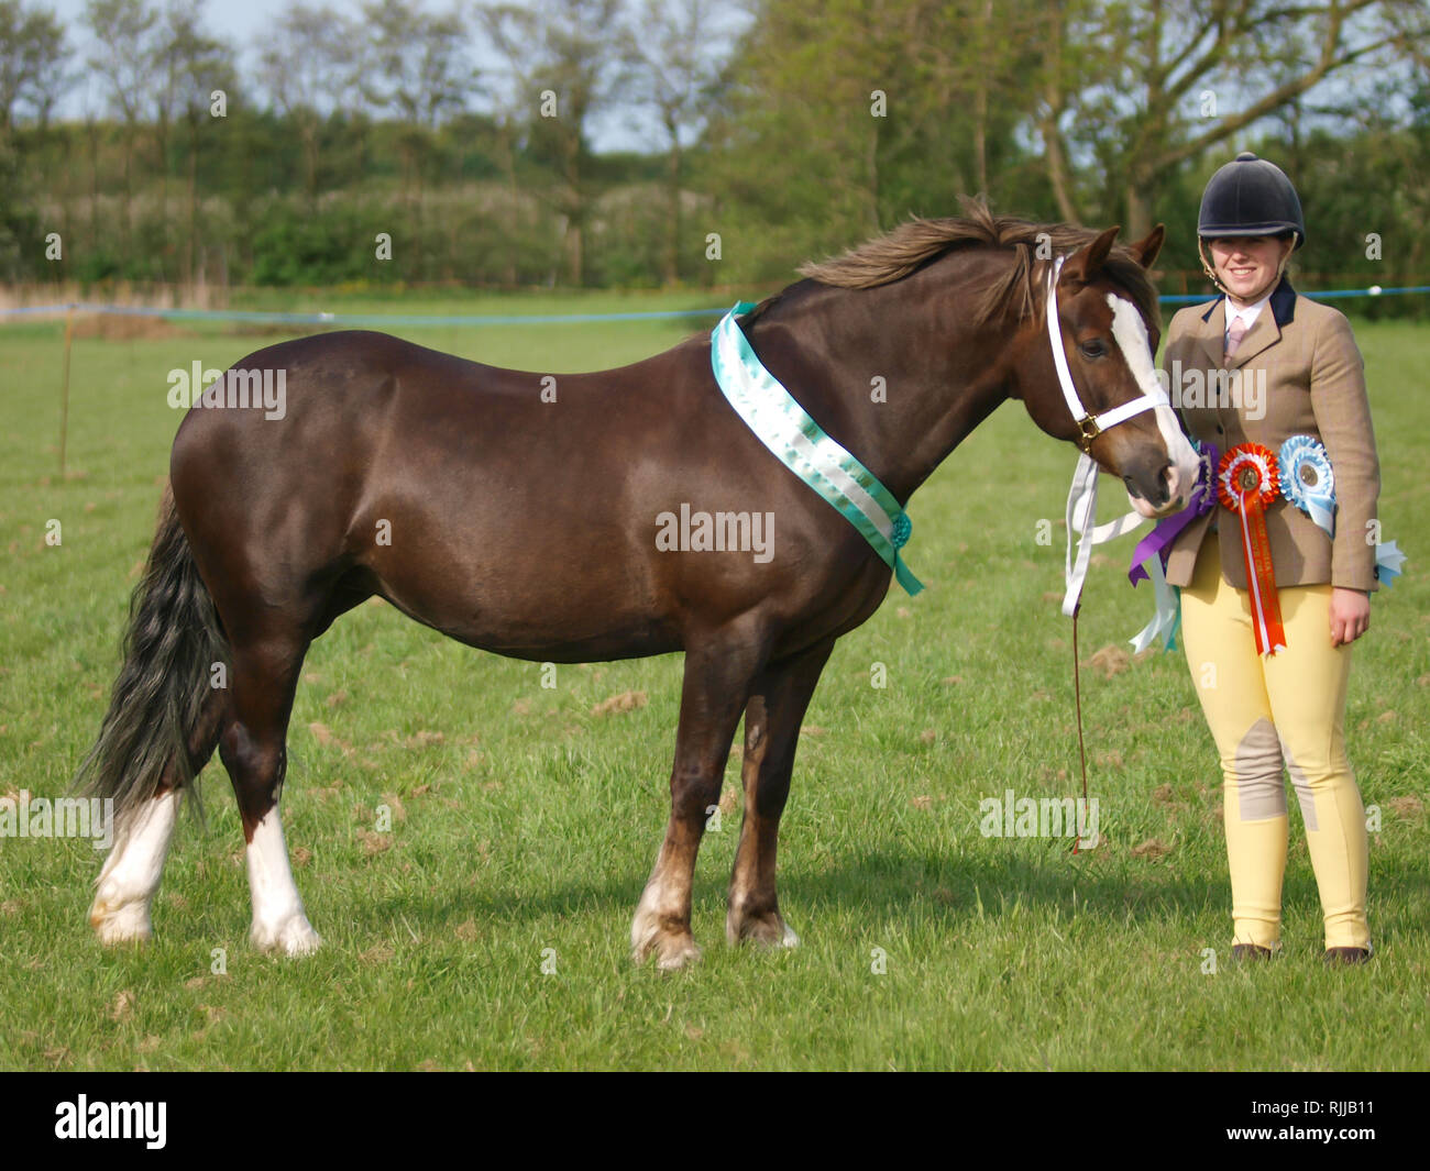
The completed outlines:
[[[1286,649],[1261,658],[1250,595],[1221,578],[1207,533],[1181,592],[1187,663],[1221,755],[1233,942],[1277,948],[1286,764],[1326,915],[1327,948],[1369,948],[1366,812],[1346,758],[1350,646],[1331,646],[1328,585],[1278,591]]]

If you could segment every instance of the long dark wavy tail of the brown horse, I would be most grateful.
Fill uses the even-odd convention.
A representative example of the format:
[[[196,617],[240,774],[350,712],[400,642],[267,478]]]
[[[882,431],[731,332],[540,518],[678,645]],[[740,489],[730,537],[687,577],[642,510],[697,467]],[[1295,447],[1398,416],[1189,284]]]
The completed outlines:
[[[197,798],[190,782],[213,752],[225,696],[212,689],[210,672],[226,652],[223,625],[166,489],[149,563],[129,602],[109,712],[74,775],[84,795],[113,799],[117,836],[162,791]]]

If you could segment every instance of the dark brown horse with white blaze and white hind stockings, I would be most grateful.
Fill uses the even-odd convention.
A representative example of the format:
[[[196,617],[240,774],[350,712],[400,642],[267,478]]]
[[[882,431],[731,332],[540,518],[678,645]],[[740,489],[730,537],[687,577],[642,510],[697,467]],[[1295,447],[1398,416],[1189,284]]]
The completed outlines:
[[[807,266],[809,279],[744,319],[766,369],[899,503],[1018,397],[1042,430],[1121,476],[1144,515],[1181,508],[1195,459],[1170,409],[1088,442],[1042,316],[1057,255],[1061,345],[1083,403],[1097,413],[1153,393],[1145,267],[1163,229],[1124,249],[1115,227],[967,210]],[[277,409],[233,397],[262,372],[286,387]],[[888,402],[871,395],[875,377]],[[247,841],[252,942],[290,955],[319,944],[279,822],[289,712],[312,641],[372,595],[522,659],[684,651],[671,818],[635,912],[635,957],[675,968],[699,955],[695,855],[742,713],[726,935],[797,942],[775,848],[801,719],[835,639],[874,613],[891,573],[725,400],[708,336],[552,382],[380,333],[329,333],[250,355],[227,387],[179,428],[124,663],[80,768],[116,808],[90,914],[104,942],[149,937],[179,795],[217,746]],[[682,506],[768,518],[769,555],[661,545],[658,518]]]

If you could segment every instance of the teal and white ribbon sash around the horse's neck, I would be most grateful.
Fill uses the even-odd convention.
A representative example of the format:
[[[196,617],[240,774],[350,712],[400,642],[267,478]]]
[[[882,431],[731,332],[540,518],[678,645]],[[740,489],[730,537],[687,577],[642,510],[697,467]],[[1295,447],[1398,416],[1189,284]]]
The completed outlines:
[[[791,472],[837,508],[894,570],[907,593],[924,585],[899,549],[912,523],[894,493],[824,433],[755,356],[735,317],[755,306],[739,302],[711,332],[711,369],[735,413]]]

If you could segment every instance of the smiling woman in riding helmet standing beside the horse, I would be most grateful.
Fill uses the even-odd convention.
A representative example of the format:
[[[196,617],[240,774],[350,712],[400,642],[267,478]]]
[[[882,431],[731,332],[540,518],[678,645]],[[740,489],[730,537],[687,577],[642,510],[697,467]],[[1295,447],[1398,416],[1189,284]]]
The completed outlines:
[[[1284,764],[1320,888],[1324,958],[1358,964],[1371,957],[1367,838],[1346,756],[1346,685],[1377,588],[1380,493],[1363,363],[1346,317],[1286,277],[1306,224],[1277,166],[1243,153],[1221,167],[1197,233],[1221,296],[1177,313],[1163,363],[1188,433],[1217,449],[1228,476],[1171,545],[1167,580],[1181,586],[1187,663],[1221,756],[1231,954],[1268,959],[1281,945]],[[1286,449],[1293,436],[1304,439]],[[1333,513],[1273,496],[1268,452],[1286,455],[1281,478],[1293,492],[1301,482],[1303,505],[1326,488],[1327,460]],[[1314,453],[1310,470],[1293,452]]]

